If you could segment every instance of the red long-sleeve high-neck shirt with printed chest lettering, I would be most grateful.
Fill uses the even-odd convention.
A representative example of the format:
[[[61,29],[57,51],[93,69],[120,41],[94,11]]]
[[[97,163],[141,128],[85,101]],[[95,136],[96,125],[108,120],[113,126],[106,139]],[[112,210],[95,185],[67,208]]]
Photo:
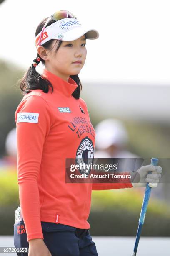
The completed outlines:
[[[19,197],[28,241],[44,238],[40,221],[90,228],[92,189],[133,187],[65,183],[65,159],[75,159],[85,139],[92,149],[90,157],[94,156],[95,130],[86,103],[72,97],[75,81],[69,77],[66,82],[47,69],[43,76],[54,91],[32,90],[15,112]]]

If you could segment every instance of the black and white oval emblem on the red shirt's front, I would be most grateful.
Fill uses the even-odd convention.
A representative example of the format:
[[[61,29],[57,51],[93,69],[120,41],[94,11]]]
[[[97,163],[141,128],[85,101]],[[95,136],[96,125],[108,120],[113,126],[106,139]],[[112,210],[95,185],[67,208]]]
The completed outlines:
[[[85,137],[80,142],[76,152],[76,162],[80,166],[80,173],[89,174],[89,166],[93,164],[94,148],[90,138]]]

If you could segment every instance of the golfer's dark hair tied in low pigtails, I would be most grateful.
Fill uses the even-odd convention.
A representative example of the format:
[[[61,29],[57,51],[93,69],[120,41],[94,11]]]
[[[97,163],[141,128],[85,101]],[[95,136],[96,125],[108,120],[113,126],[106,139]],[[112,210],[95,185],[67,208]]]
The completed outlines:
[[[35,37],[42,31],[42,28],[46,22],[47,18],[43,19],[40,24],[37,26],[36,32],[35,32]],[[54,23],[55,20],[51,19],[47,26],[50,26],[52,23]],[[47,41],[45,44],[42,44],[42,46],[45,49],[50,49],[50,46],[52,45],[52,42],[55,39],[51,39],[50,41]],[[57,43],[57,40],[56,40]],[[55,43],[55,45],[56,45]],[[59,44],[55,50],[55,54],[58,50],[58,48],[60,47],[62,41],[59,41]],[[54,46],[55,46],[54,45]],[[54,47],[53,46],[53,47]],[[50,49],[51,51],[52,49]],[[39,56],[39,54],[37,54],[37,57],[40,58],[42,64],[45,64],[45,61]],[[36,57],[36,58],[37,58]],[[34,60],[36,61],[36,59]],[[37,61],[37,65],[39,64],[39,62]],[[75,97],[75,99],[79,99],[80,98],[80,91],[82,90],[82,84],[80,82],[80,79],[78,77],[78,75],[70,75],[70,77],[77,83],[77,88],[75,89],[75,91],[72,93],[72,96]],[[52,92],[53,92],[53,86],[50,83],[49,80],[45,79],[45,77],[42,77],[35,69],[35,67],[33,66],[33,62],[32,65],[28,68],[28,70],[26,71],[26,73],[24,74],[23,78],[19,80],[20,81],[20,89],[23,91],[23,95],[25,95],[26,93],[29,93],[31,90],[36,90],[36,89],[41,89],[43,92],[47,93],[49,91],[49,86],[52,88]]]

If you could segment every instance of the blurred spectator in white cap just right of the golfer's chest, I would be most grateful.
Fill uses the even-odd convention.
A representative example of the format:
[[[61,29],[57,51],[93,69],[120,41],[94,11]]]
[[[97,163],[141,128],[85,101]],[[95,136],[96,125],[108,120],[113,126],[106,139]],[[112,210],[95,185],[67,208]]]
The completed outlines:
[[[140,159],[135,161],[140,156],[126,150],[128,133],[120,120],[105,119],[96,125],[95,132],[94,158],[123,158],[122,161],[119,161],[120,171],[135,171],[140,168],[142,161]],[[132,161],[128,160],[130,158],[133,158]],[[165,199],[166,193],[170,191],[168,185],[158,184],[158,187],[153,189],[152,194],[160,199]],[[138,188],[138,190],[143,193],[143,188]]]

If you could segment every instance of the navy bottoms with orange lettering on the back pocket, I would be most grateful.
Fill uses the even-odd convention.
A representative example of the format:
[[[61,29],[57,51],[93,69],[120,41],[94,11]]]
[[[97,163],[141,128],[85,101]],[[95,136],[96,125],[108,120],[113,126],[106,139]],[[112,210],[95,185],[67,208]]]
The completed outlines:
[[[98,256],[89,229],[41,221],[44,243],[52,256]],[[15,248],[29,247],[24,221],[14,225]],[[28,256],[28,253],[17,253]]]

